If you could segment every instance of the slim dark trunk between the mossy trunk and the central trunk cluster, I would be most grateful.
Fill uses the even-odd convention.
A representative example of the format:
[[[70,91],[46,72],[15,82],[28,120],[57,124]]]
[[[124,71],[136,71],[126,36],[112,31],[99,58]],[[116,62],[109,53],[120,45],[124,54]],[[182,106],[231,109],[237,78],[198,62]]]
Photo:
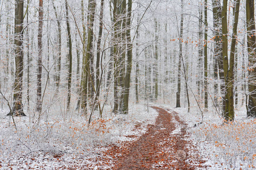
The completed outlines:
[[[97,41],[97,59],[96,59],[96,88],[97,88],[96,100],[98,100],[99,98],[99,62],[100,62],[100,55],[101,55],[100,52],[101,52],[101,37],[102,37],[102,27],[103,27],[103,10],[104,10],[104,0],[101,0],[101,9],[99,12],[99,36]]]

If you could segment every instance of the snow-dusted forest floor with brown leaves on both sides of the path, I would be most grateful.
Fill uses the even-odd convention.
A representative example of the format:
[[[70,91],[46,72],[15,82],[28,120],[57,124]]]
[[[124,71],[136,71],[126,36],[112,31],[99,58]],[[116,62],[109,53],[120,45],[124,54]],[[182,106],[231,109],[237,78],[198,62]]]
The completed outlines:
[[[217,113],[209,110],[204,112],[201,124],[197,107],[189,113],[187,108],[159,107],[170,110],[170,114],[176,111],[187,124],[188,134],[183,139],[194,145],[187,146],[189,154],[199,154],[206,161],[198,169],[255,168],[256,119],[246,119],[244,110],[236,110],[236,120],[224,124]],[[113,145],[122,148],[135,142],[158,116],[156,110],[148,107],[147,111],[145,105],[131,105],[128,115],[114,115],[106,106],[103,118],[98,118],[95,111],[90,126],[88,116],[73,114],[69,119],[60,119],[60,112],[54,112],[39,124],[29,123],[28,117],[15,117],[16,131],[12,119],[5,116],[7,112],[0,112],[0,169],[65,169],[68,165],[75,169],[112,169],[114,159],[103,153]],[[181,133],[179,123],[175,128],[171,137]],[[101,158],[108,161],[102,162]]]

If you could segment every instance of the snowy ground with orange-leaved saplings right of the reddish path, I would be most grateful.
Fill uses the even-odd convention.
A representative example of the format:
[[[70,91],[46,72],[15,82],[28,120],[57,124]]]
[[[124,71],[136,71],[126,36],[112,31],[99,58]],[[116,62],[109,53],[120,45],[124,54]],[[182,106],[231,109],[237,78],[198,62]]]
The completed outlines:
[[[187,122],[187,130],[208,169],[255,169],[256,167],[256,119],[246,118],[246,111],[236,110],[235,121],[223,123],[218,113],[174,108]],[[196,126],[195,126],[196,124]]]

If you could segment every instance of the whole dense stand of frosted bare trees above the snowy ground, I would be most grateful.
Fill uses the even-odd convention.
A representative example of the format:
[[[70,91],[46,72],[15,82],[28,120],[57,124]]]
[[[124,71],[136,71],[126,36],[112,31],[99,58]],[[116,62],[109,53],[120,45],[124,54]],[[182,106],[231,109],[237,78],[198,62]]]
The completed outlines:
[[[252,0],[0,4],[10,115],[39,121],[58,107],[91,117],[106,105],[128,113],[129,103],[157,102],[212,108],[226,120],[238,107],[255,116]]]

